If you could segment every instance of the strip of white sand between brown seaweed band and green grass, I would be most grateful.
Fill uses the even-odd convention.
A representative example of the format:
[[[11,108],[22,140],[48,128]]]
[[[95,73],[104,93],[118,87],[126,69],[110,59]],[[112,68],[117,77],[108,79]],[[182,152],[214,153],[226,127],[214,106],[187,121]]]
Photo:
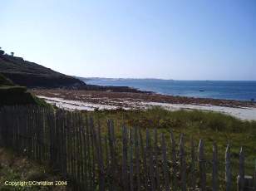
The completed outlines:
[[[115,110],[119,108],[116,105],[101,105],[94,104],[79,100],[64,100],[57,97],[47,97],[47,96],[38,96],[47,101],[47,103],[55,104],[59,108],[66,110]],[[115,101],[116,102],[116,101]],[[122,107],[125,110],[130,109],[141,109],[145,110],[151,106],[161,106],[166,110],[208,110],[216,111],[226,115],[232,115],[241,120],[256,120],[256,108],[243,107],[243,108],[234,108],[234,107],[225,107],[225,106],[216,106],[216,105],[183,105],[183,104],[169,104],[169,103],[160,103],[160,102],[145,102],[145,101],[127,101],[123,100],[120,103],[125,102],[129,103],[130,107]]]

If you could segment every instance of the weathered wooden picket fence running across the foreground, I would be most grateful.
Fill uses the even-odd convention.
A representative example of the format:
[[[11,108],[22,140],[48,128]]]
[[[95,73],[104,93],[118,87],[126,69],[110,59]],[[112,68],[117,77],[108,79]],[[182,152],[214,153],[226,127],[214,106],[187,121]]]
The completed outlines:
[[[103,130],[81,112],[35,106],[0,108],[1,146],[50,164],[74,190],[236,190],[233,168],[239,168],[239,190],[256,190],[256,170],[252,185],[244,179],[243,148],[239,166],[234,167],[229,144],[221,163],[216,144],[212,159],[207,160],[203,140],[198,149],[190,140],[188,150],[184,135],[178,142],[172,131],[170,140],[158,131],[126,126],[114,130],[112,120]]]

